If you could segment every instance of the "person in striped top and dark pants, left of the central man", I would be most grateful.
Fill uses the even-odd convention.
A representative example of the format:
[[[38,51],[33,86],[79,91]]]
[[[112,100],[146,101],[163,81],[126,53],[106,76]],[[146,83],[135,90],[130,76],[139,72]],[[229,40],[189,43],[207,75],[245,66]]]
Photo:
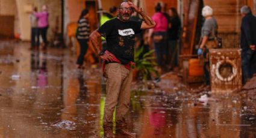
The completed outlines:
[[[77,68],[83,68],[84,55],[86,55],[88,49],[88,40],[90,35],[90,25],[88,22],[89,11],[84,9],[78,20],[78,28],[76,32],[76,38],[80,44],[80,55],[76,61]]]

